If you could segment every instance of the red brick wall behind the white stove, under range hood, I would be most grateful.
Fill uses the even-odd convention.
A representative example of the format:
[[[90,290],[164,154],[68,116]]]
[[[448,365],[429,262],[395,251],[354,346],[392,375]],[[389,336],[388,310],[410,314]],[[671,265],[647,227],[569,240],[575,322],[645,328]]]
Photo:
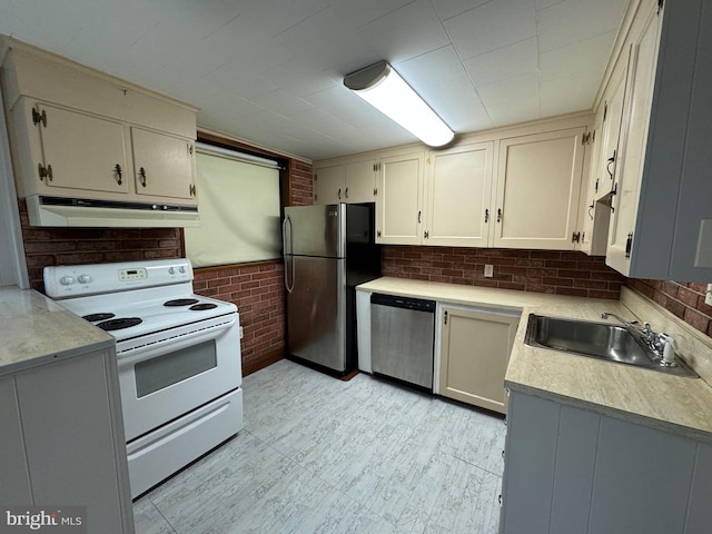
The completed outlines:
[[[30,287],[44,293],[42,269],[53,265],[103,264],[134,259],[180,258],[179,228],[47,228],[29,226],[19,201]]]

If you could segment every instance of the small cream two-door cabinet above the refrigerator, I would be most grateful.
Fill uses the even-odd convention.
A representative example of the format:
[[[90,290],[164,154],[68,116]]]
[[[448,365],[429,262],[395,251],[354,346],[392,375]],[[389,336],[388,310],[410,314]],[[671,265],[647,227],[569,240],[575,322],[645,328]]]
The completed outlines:
[[[314,169],[314,204],[373,202],[376,198],[376,160],[325,164]]]

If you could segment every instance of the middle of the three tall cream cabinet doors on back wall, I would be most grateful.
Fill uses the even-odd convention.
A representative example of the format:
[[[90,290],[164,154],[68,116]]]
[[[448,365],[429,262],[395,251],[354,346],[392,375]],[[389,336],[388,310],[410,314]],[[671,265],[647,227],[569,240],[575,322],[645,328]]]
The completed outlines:
[[[432,152],[427,177],[427,245],[486,247],[494,142]]]

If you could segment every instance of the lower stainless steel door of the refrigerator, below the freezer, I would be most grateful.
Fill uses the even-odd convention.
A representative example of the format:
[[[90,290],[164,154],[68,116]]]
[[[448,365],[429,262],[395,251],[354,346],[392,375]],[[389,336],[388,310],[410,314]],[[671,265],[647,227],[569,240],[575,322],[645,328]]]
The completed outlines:
[[[346,370],[346,260],[291,256],[287,293],[289,354]]]

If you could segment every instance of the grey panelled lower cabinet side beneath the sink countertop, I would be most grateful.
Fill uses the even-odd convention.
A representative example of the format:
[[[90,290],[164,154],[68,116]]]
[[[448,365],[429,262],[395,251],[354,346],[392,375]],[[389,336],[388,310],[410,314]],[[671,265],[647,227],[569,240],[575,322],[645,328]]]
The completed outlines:
[[[712,525],[712,444],[512,390],[503,534],[693,534]]]

